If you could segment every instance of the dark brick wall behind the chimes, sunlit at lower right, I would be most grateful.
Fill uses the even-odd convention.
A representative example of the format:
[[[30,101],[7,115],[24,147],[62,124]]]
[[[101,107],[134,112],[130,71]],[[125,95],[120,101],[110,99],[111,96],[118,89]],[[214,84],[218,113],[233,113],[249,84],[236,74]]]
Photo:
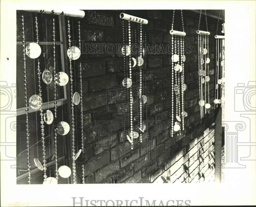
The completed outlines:
[[[81,20],[84,44],[122,43],[119,10],[86,10]],[[147,43],[171,43],[169,30],[173,10],[124,11],[148,19]],[[208,17],[210,58],[210,113],[200,119],[197,44],[199,14],[183,10],[185,43],[191,52],[185,61],[185,130],[171,136],[171,57],[147,55],[148,125],[150,139],[134,146],[125,141],[122,153],[123,117],[114,112],[115,96],[107,88],[123,80],[123,57],[114,54],[81,54],[83,81],[83,130],[85,156],[77,160],[78,183],[81,163],[86,183],[201,182],[214,180],[214,66],[217,19]],[[76,28],[77,23],[74,22]],[[181,30],[180,12],[175,13],[175,30]],[[206,30],[205,16],[201,30]],[[220,28],[219,28],[220,30]],[[133,76],[134,77],[134,76]],[[79,113],[79,112],[77,112]],[[157,125],[158,124],[158,125]],[[160,127],[159,127],[160,126]],[[127,129],[126,125],[126,129]],[[145,140],[145,139],[144,139]],[[78,144],[79,143],[78,140]]]

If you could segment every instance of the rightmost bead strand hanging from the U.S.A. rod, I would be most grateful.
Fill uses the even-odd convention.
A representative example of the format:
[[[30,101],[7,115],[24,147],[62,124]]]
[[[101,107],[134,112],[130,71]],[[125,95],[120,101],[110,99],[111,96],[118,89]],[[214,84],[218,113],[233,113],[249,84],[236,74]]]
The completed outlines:
[[[80,20],[78,20],[78,32],[79,32],[79,50],[81,51],[81,30],[80,30]],[[84,157],[84,135],[83,135],[83,87],[82,87],[82,65],[81,59],[79,62],[80,69],[80,114],[81,114],[81,142],[82,142],[82,157]],[[82,183],[85,184],[85,172],[84,172],[84,163],[82,163]]]

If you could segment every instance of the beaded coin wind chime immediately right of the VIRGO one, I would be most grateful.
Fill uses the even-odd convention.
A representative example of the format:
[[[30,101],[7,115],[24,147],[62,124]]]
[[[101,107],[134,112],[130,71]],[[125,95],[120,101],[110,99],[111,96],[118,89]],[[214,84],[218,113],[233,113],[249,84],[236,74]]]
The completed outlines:
[[[172,35],[172,137],[174,131],[179,131],[179,134],[181,134],[181,130],[184,130],[184,117],[188,115],[187,112],[184,111],[184,91],[187,88],[184,83],[184,62],[186,60],[184,54],[184,37],[186,36],[186,32],[184,31],[182,10],[181,19],[183,31],[173,30],[174,15],[175,10],[173,10],[172,29],[170,30],[170,34]],[[175,100],[174,93],[176,95]],[[174,114],[176,114],[175,120]]]

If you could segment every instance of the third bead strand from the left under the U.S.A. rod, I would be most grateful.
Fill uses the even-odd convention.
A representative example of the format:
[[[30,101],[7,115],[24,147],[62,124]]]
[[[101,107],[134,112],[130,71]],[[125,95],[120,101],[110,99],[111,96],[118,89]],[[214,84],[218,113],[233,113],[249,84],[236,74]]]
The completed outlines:
[[[53,60],[54,60],[54,117],[55,117],[55,124],[54,124],[54,147],[55,147],[55,178],[58,182],[59,180],[59,173],[58,173],[58,156],[57,156],[57,87],[56,87],[56,56],[55,56],[55,18],[52,19],[53,24]]]

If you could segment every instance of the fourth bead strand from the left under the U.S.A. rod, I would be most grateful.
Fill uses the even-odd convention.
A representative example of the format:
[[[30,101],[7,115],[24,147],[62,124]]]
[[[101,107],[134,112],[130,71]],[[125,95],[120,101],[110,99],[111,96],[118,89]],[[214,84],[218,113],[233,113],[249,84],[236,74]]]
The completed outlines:
[[[71,31],[70,31],[70,19],[68,17],[68,49],[71,50]],[[72,53],[72,52],[71,52]],[[73,71],[72,71],[72,62],[71,62],[71,57],[69,57],[69,77],[70,77],[70,101],[71,101],[71,123],[72,123],[72,171],[73,171],[73,184],[76,184],[76,162],[75,162],[75,151],[76,151],[76,147],[75,147],[75,121],[74,121],[74,103],[73,103]]]

